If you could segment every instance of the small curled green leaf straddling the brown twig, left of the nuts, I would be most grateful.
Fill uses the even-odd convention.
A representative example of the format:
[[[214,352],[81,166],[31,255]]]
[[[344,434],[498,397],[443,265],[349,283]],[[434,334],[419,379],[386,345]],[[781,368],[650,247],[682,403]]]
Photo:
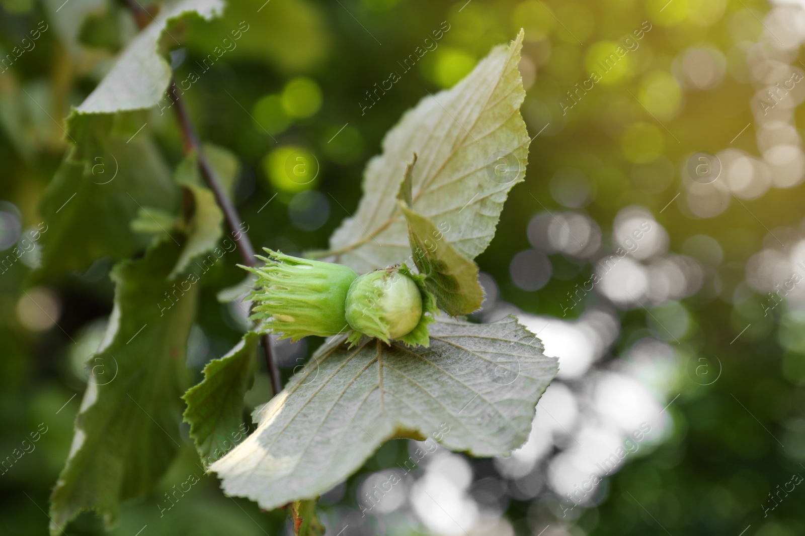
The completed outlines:
[[[231,197],[231,190],[237,178],[237,158],[226,149],[214,145],[206,145],[204,149],[221,186],[230,192]],[[183,272],[194,257],[213,251],[224,234],[221,229],[224,213],[218,207],[212,190],[201,186],[203,182],[196,153],[189,155],[176,168],[176,182],[190,194],[192,209],[188,221],[188,242],[171,272],[171,278]]]

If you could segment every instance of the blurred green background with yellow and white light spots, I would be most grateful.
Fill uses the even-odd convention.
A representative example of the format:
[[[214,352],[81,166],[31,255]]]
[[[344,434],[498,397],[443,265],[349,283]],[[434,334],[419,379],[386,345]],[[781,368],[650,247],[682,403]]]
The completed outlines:
[[[0,260],[0,458],[14,456],[0,475],[0,534],[46,534],[47,498],[93,366],[86,360],[111,311],[112,263],[101,258],[84,273],[32,284],[39,247],[24,240],[42,228],[39,201],[68,149],[64,117],[136,27],[107,0],[0,3],[0,57],[28,43],[13,64],[0,63],[0,255],[32,248],[19,262]],[[40,21],[47,30],[31,42]],[[248,30],[237,47],[201,68],[242,21]],[[398,62],[440,27],[449,29],[436,47],[368,108],[374,84],[401,71]],[[805,473],[802,288],[786,288],[783,300],[775,286],[792,272],[805,276],[797,265],[805,260],[797,107],[805,84],[774,89],[803,73],[801,5],[233,0],[223,18],[178,24],[171,35],[181,47],[167,49],[176,80],[199,75],[185,99],[201,136],[241,161],[237,207],[253,243],[293,255],[325,248],[357,207],[363,166],[401,114],[427,92],[450,88],[521,27],[522,115],[535,140],[526,182],[513,190],[493,243],[477,259],[489,301],[476,316],[514,311],[535,331],[542,320],[554,326],[545,334],[547,353],[570,371],[559,376],[565,403],[557,411],[575,413],[551,417],[559,428],[551,425],[543,444],[530,441],[541,446],[518,458],[522,467],[444,453],[411,475],[388,511],[363,517],[367,478],[407,458],[407,441],[394,440],[323,498],[328,534],[805,534],[805,490],[779,492],[793,473]],[[618,46],[628,52],[591,88],[590,73]],[[175,166],[182,147],[174,117],[155,111],[147,121]],[[312,182],[289,177],[294,151],[315,162]],[[691,179],[698,151],[717,154],[706,157],[720,167],[712,182]],[[653,238],[568,309],[568,293],[584,286],[597,260],[628,246],[624,236],[643,220],[654,225]],[[225,258],[203,280],[188,341],[196,380],[240,337],[237,307],[216,299],[242,279],[234,264]],[[572,329],[595,327],[596,318],[605,327],[588,340],[597,342],[569,351]],[[284,377],[319,343],[279,342]],[[601,378],[624,376],[634,382],[622,389],[640,383],[653,398],[635,395],[621,406],[669,404],[656,423],[661,432],[563,517],[572,506],[566,493],[580,482],[568,473],[568,452],[580,456],[574,442],[592,449],[588,459],[613,452],[597,450],[584,431],[608,416],[617,420],[622,407],[608,409]],[[247,405],[269,396],[261,370]],[[635,428],[625,422],[621,429]],[[43,430],[18,457],[23,440]],[[170,472],[152,497],[122,509],[114,534],[286,534],[282,511],[224,497],[214,477],[201,477],[186,429],[182,436]],[[160,497],[194,472],[201,484],[160,518]],[[452,484],[435,493],[455,503],[455,524],[418,498],[427,479],[440,475]],[[62,528],[102,533],[89,513]]]

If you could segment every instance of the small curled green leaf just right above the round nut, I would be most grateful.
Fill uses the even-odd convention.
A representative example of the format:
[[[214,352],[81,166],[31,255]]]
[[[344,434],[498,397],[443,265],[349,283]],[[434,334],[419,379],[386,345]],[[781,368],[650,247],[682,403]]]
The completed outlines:
[[[398,203],[408,222],[414,262],[439,309],[452,317],[481,309],[484,290],[478,283],[477,265],[452,247],[433,220],[412,211],[403,201]]]

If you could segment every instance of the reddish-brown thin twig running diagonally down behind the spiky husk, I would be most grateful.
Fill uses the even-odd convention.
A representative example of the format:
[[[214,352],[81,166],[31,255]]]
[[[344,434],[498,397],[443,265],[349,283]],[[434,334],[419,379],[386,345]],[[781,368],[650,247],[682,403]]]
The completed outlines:
[[[137,0],[123,0],[123,2],[131,11],[131,14],[134,15],[134,20],[137,22],[138,27],[140,27],[141,30],[147,27],[148,23],[151,22],[149,19],[153,18],[151,14],[140,6]],[[237,244],[238,251],[241,252],[243,264],[246,264],[246,266],[254,266],[256,264],[254,262],[254,247],[252,246],[249,236],[246,235],[245,232],[240,231],[240,223],[242,222],[240,215],[237,214],[237,209],[224,191],[223,186],[221,186],[221,181],[218,180],[213,166],[210,165],[207,155],[204,153],[204,148],[201,145],[198,133],[196,133],[196,128],[190,120],[190,114],[188,113],[187,107],[184,105],[184,100],[182,100],[179,92],[176,91],[176,84],[172,77],[171,84],[168,87],[170,88],[168,96],[174,104],[176,117],[179,120],[182,130],[184,153],[196,152],[201,176],[204,178],[204,182],[207,183],[209,189],[213,190],[213,195],[215,195],[218,206],[221,207],[221,211],[224,212],[227,227],[233,232],[233,236],[240,235],[240,238],[236,239],[235,243]],[[263,351],[266,354],[266,369],[268,369],[268,374],[271,378],[271,387],[274,389],[274,394],[277,395],[279,391],[283,390],[283,386],[280,383],[279,367],[277,366],[277,362],[275,362],[274,355],[271,353],[271,338],[268,335],[263,335],[261,341]]]

